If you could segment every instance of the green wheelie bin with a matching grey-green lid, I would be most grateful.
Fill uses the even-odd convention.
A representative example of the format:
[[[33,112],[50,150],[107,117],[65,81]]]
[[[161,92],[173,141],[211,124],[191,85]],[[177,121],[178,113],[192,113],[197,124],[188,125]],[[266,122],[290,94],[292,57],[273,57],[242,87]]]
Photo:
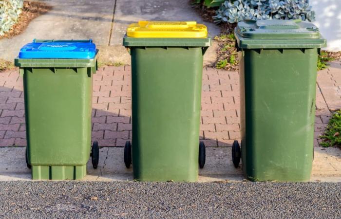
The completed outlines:
[[[245,20],[234,35],[241,100],[241,148],[233,143],[234,165],[242,158],[244,176],[252,181],[308,181],[317,59],[326,40],[302,20]]]

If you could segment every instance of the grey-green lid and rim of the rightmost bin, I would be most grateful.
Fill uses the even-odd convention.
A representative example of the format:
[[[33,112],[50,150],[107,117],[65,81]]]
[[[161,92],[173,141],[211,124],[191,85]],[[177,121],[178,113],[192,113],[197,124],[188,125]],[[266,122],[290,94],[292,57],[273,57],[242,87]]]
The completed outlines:
[[[244,20],[234,30],[242,49],[321,48],[326,40],[312,23],[297,20]]]

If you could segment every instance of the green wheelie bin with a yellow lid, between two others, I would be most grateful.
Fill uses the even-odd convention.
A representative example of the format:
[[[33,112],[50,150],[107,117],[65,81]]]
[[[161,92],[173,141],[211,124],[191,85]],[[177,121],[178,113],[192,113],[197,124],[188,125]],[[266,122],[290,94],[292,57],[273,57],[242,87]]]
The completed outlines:
[[[203,55],[210,46],[195,21],[139,21],[123,45],[132,57],[132,145],[124,161],[139,181],[195,182],[205,164],[199,143]]]

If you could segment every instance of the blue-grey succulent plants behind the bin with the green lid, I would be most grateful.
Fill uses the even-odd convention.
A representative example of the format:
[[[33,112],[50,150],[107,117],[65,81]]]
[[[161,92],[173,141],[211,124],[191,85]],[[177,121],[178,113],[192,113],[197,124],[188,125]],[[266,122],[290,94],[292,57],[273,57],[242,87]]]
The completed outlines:
[[[236,23],[243,19],[315,20],[308,0],[226,0],[213,17],[215,22]]]

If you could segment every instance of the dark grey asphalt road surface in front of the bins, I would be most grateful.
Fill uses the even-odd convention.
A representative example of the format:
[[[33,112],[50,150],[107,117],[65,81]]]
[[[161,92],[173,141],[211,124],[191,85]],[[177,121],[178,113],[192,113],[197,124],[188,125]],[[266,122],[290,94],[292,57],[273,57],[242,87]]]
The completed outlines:
[[[341,183],[1,182],[0,218],[341,218]]]

